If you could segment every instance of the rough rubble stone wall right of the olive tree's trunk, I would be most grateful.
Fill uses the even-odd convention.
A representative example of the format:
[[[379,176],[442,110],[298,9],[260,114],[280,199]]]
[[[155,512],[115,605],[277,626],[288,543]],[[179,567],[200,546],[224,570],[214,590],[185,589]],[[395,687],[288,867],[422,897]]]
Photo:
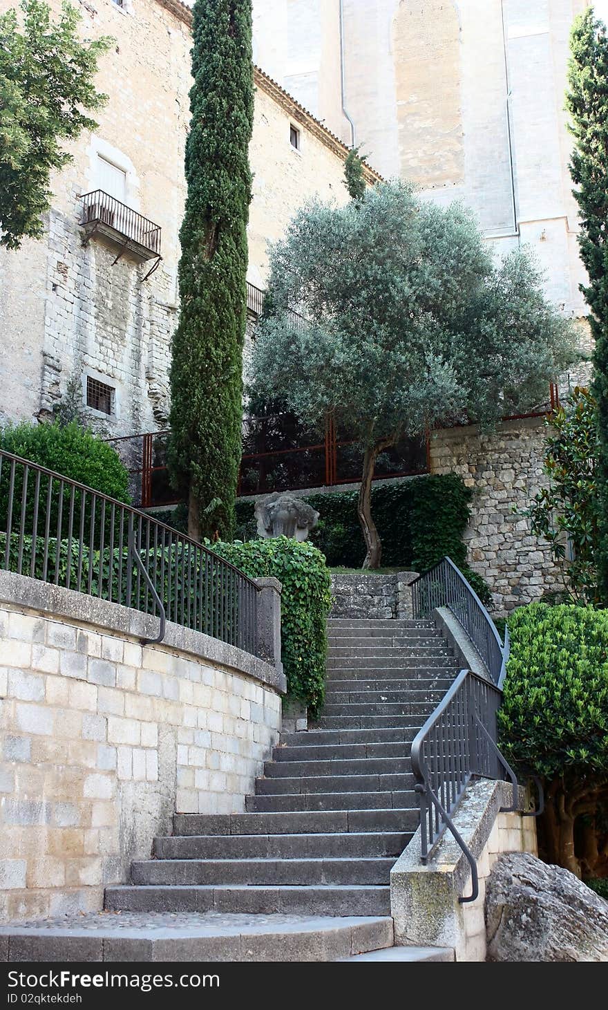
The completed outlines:
[[[543,437],[541,417],[505,421],[486,434],[471,425],[431,436],[431,473],[460,474],[474,490],[468,558],[490,585],[498,613],[564,586],[548,544],[522,515],[545,482]]]

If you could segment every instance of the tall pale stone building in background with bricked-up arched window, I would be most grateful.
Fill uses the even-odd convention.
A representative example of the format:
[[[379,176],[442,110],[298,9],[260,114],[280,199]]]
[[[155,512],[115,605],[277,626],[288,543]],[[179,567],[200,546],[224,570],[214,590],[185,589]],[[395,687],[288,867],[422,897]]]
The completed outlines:
[[[578,317],[584,271],[564,94],[570,27],[587,6],[254,0],[257,54],[386,178],[410,179],[440,203],[462,199],[500,252],[531,245],[547,294]],[[608,16],[606,0],[594,8]]]

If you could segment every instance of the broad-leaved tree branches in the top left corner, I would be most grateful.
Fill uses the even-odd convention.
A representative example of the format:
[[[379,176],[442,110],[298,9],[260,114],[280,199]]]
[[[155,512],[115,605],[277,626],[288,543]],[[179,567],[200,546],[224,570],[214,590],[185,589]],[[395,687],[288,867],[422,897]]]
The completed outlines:
[[[64,3],[52,21],[43,0],[21,0],[0,17],[0,245],[39,238],[50,206],[49,178],[72,155],[62,149],[97,123],[85,115],[107,99],[95,90],[99,57],[111,39],[82,41],[82,17]]]

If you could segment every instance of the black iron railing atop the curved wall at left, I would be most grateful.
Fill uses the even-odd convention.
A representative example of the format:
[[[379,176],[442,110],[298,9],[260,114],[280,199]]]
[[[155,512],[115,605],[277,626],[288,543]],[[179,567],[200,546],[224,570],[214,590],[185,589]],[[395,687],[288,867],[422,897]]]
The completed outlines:
[[[0,449],[0,569],[257,654],[256,583],[144,513]]]

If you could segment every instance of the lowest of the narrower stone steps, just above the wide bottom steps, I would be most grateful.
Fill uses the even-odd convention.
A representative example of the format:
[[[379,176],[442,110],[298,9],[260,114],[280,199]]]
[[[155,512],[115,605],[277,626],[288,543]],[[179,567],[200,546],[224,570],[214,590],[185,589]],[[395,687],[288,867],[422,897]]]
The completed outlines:
[[[245,796],[245,809],[259,812],[296,810],[411,810],[417,813],[418,798],[413,790],[372,790],[364,793],[266,793]]]

